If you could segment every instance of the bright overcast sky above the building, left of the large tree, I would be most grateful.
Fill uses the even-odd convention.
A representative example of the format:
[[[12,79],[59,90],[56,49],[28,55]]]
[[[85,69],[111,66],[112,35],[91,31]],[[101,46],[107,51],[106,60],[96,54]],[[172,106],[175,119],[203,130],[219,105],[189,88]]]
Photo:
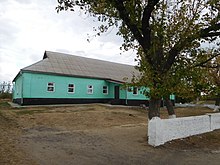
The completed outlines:
[[[0,82],[12,81],[45,50],[135,64],[133,51],[119,50],[116,29],[89,43],[97,22],[79,11],[57,14],[56,6],[57,0],[0,0]]]

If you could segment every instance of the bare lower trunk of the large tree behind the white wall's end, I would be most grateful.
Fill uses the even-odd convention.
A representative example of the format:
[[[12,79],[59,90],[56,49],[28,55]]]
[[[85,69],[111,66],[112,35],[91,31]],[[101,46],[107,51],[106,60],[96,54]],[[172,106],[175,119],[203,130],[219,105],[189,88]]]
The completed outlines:
[[[153,117],[160,117],[160,104],[161,99],[150,99],[148,112],[149,119],[152,119]]]

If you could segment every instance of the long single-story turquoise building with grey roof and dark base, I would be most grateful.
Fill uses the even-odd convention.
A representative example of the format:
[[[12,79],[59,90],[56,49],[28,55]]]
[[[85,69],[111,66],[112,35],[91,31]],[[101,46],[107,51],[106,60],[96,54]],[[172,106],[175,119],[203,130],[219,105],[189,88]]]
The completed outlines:
[[[131,65],[45,51],[43,60],[14,78],[20,105],[110,103],[148,105],[143,88],[125,88],[139,72]]]

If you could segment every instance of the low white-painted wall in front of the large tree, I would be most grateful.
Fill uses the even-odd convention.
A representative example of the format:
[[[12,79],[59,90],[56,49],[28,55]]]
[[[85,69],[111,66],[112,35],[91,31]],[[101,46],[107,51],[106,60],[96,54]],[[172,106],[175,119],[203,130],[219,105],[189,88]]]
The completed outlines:
[[[154,117],[148,123],[148,143],[159,146],[165,142],[220,129],[220,113],[175,119]]]

